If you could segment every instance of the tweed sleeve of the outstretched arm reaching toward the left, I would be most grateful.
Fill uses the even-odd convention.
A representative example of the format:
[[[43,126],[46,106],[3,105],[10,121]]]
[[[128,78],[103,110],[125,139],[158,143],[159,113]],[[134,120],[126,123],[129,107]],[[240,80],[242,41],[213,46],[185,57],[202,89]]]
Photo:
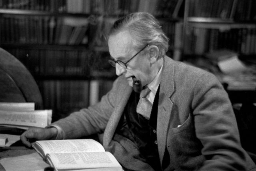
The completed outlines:
[[[112,89],[102,97],[99,103],[71,113],[68,117],[51,125],[58,125],[62,129],[64,139],[102,133],[116,103],[117,85],[120,85],[120,79],[114,82]]]

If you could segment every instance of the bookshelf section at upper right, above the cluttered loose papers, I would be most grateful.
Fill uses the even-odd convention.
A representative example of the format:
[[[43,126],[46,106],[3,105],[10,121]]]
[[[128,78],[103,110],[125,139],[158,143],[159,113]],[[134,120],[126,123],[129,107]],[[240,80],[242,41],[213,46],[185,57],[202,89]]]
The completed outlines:
[[[186,0],[184,55],[218,49],[255,55],[255,7],[254,0]]]

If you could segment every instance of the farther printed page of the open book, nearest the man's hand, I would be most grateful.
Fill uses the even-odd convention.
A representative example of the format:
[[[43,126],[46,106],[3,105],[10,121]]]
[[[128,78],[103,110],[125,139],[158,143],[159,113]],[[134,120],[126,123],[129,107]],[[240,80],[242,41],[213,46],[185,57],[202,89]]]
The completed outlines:
[[[32,146],[40,155],[42,155],[43,158],[47,153],[105,151],[103,146],[93,139],[36,141]]]

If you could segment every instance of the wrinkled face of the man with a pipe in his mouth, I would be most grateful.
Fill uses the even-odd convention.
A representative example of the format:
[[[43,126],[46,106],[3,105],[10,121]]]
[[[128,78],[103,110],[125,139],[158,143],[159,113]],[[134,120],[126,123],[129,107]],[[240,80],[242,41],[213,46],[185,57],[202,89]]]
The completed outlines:
[[[128,31],[122,31],[118,34],[111,35],[108,39],[108,48],[111,57],[115,61],[120,60],[124,63],[130,60],[130,58],[138,52],[138,50],[135,50],[132,43],[132,37]],[[127,68],[123,68],[119,64],[116,64],[116,75],[124,75],[130,86],[132,86],[132,76],[135,76],[137,80],[140,80],[142,86],[147,85],[152,81],[147,48],[130,60],[126,65]]]

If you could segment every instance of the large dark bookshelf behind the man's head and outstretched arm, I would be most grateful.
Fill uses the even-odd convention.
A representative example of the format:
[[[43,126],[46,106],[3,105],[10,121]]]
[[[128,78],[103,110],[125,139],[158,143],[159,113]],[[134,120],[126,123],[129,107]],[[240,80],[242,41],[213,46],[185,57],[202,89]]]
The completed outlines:
[[[108,30],[120,16],[150,12],[182,54],[184,0],[0,0],[0,47],[32,73],[53,121],[96,103],[111,87]]]

